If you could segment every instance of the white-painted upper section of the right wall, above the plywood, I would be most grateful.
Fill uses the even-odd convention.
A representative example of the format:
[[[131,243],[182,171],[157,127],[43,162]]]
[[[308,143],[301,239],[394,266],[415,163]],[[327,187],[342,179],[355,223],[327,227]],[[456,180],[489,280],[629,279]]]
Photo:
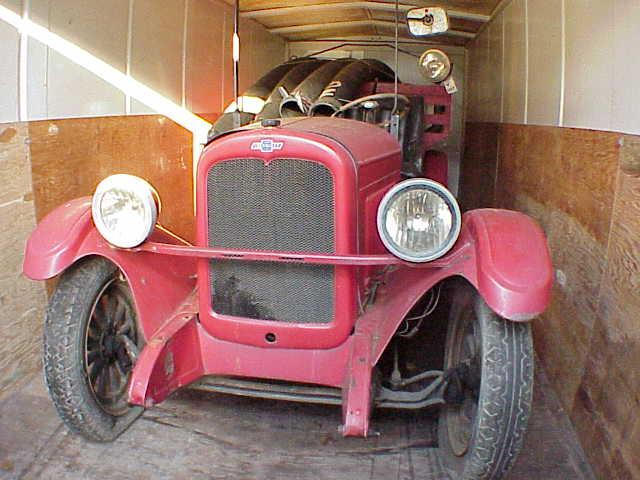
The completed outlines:
[[[512,0],[468,46],[467,120],[640,134],[638,25],[638,0]]]

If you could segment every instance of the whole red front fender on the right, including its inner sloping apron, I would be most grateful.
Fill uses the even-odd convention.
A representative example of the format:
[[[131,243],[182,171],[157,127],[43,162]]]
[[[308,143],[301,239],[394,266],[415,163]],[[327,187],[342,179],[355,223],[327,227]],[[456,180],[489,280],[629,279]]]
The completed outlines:
[[[551,298],[553,267],[544,232],[522,213],[473,210],[465,213],[460,237],[446,256],[391,270],[376,302],[358,320],[358,328],[374,332],[374,364],[425,292],[457,276],[467,279],[501,317],[532,320]]]

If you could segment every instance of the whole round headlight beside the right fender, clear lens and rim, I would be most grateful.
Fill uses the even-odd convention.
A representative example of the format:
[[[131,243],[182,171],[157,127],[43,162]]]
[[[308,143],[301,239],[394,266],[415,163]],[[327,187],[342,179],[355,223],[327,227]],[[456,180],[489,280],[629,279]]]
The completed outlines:
[[[451,192],[424,178],[405,180],[383,197],[378,233],[385,247],[409,262],[429,262],[447,253],[458,239],[461,214]]]

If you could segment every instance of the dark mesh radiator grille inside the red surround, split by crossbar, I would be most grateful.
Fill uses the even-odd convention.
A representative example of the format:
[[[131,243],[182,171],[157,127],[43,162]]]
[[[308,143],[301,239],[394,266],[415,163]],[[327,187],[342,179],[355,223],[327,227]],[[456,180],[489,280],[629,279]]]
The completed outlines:
[[[315,162],[216,164],[207,178],[209,246],[334,251],[333,180]],[[212,260],[212,303],[225,315],[299,323],[333,318],[334,267]]]

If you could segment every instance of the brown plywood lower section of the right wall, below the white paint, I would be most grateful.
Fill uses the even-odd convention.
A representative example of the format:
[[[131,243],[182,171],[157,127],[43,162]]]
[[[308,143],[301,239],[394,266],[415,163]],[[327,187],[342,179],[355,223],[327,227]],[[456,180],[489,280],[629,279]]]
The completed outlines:
[[[468,123],[466,139],[465,207],[521,210],[547,233],[557,281],[536,349],[598,477],[640,478],[640,138]]]

